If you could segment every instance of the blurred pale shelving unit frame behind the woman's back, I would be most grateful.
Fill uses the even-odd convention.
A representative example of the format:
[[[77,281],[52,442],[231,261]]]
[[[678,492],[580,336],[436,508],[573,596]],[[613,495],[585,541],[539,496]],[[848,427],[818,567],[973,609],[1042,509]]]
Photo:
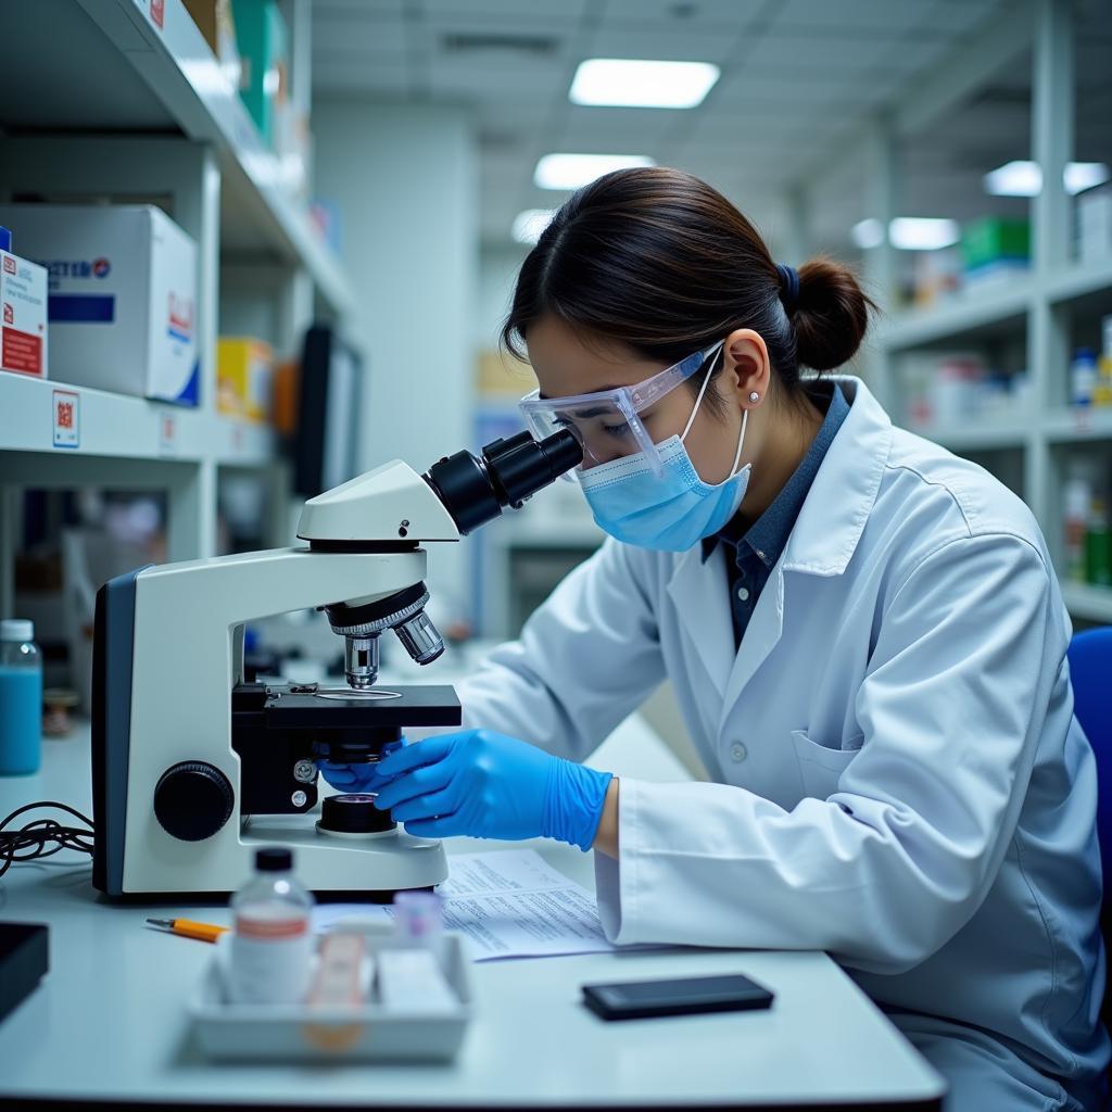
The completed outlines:
[[[1043,170],[1043,190],[1031,199],[1032,267],[1025,277],[993,290],[972,291],[937,308],[892,312],[877,331],[875,357],[868,367],[872,387],[897,423],[900,363],[910,354],[991,347],[1001,342],[1025,349],[1029,379],[1026,405],[1011,420],[989,418],[969,426],[916,429],[943,446],[969,455],[1010,483],[1031,506],[1046,537],[1063,580],[1063,595],[1076,618],[1112,622],[1112,588],[1065,582],[1063,559],[1062,483],[1074,453],[1099,453],[1112,459],[1112,410],[1068,407],[1070,327],[1072,315],[1112,312],[1112,258],[1095,264],[1072,259],[1072,199],[1061,185],[1074,157],[1074,112],[1078,97],[1074,61],[1074,9],[1065,0],[1019,2],[1011,16],[1009,41],[996,30],[996,42],[971,43],[967,56],[937,75],[936,88],[920,90],[915,110],[896,111],[874,121],[867,137],[873,183],[873,211],[882,220],[897,212],[898,141],[914,127],[939,119],[987,81],[1007,57],[1030,51],[1031,153]],[[979,60],[979,53],[982,58]],[[952,89],[945,88],[950,81]],[[955,91],[956,90],[956,91]],[[891,304],[896,272],[893,248],[866,252],[866,272]]]

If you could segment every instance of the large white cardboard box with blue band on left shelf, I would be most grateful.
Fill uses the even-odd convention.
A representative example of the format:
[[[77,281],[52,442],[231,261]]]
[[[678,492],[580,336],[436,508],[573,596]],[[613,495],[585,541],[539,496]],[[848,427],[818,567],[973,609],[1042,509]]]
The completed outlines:
[[[197,248],[151,205],[0,207],[47,268],[51,378],[196,406]]]

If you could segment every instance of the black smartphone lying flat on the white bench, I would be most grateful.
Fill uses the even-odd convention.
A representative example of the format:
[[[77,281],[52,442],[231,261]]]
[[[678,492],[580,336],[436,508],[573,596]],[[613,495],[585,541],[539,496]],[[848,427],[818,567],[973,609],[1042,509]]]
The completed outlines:
[[[651,1015],[747,1012],[771,1007],[774,996],[756,981],[732,974],[676,981],[585,984],[583,999],[587,1007],[604,1020],[639,1020]]]

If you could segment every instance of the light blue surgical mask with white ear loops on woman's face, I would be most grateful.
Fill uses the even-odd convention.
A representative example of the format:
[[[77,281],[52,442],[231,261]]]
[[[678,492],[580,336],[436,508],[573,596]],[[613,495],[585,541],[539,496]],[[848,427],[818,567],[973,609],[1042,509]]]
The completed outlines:
[[[749,465],[737,469],[748,410],[742,414],[734,465],[722,483],[705,483],[684,447],[709,380],[708,371],[683,433],[656,446],[664,465],[662,475],[654,474],[641,451],[579,471],[579,485],[595,522],[612,537],[638,548],[686,552],[717,533],[737,513],[749,481]]]

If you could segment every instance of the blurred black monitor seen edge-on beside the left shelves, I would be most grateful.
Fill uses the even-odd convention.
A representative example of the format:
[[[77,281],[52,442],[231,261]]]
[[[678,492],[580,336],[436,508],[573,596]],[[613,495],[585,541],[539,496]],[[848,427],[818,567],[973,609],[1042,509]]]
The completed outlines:
[[[358,474],[363,358],[329,325],[305,334],[294,436],[294,493],[311,498]]]

